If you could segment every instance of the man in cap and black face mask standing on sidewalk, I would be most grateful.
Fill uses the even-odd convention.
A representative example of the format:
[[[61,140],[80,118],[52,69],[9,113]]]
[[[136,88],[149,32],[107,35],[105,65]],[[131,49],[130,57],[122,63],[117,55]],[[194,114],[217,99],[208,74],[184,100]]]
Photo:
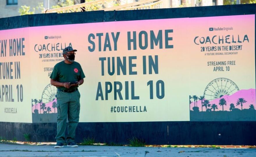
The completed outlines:
[[[51,85],[57,87],[57,144],[54,148],[64,147],[65,142],[67,147],[78,147],[74,142],[80,113],[80,93],[77,88],[83,84],[85,76],[81,65],[74,61],[76,51],[71,46],[66,47],[62,53],[65,60],[54,66],[50,76]]]

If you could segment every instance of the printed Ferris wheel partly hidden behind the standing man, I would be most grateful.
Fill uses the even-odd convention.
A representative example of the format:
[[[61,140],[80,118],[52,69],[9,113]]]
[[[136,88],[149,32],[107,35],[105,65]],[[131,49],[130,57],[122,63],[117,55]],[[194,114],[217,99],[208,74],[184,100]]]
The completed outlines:
[[[51,84],[48,84],[42,93],[42,101],[45,103],[49,103],[56,99],[55,95],[57,93],[57,88]]]

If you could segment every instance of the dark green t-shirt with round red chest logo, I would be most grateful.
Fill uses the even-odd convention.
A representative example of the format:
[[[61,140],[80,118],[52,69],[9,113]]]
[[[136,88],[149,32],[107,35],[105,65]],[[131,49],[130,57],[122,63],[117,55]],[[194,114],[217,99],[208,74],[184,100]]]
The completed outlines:
[[[51,73],[51,79],[54,79],[58,82],[76,82],[85,78],[82,67],[77,62],[72,62],[71,64],[67,64],[64,61],[57,63]],[[77,87],[71,86],[70,88],[65,87],[57,87],[61,90],[74,90]]]

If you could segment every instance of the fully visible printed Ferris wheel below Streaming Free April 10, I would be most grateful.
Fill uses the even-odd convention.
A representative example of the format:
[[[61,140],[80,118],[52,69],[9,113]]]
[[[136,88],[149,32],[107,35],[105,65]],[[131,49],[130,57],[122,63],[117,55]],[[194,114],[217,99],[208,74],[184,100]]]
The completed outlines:
[[[239,88],[230,79],[216,78],[206,86],[204,96],[206,100],[213,100],[224,95],[231,95],[237,91],[239,91]]]

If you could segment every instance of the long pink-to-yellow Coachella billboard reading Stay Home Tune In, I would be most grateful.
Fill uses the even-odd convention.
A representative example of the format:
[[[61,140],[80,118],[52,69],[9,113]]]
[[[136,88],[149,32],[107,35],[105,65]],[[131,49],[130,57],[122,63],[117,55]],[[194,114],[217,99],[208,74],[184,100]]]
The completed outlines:
[[[79,122],[256,121],[255,15],[0,31],[0,121],[56,122],[66,46],[86,75]],[[32,113],[31,113],[32,112]]]

